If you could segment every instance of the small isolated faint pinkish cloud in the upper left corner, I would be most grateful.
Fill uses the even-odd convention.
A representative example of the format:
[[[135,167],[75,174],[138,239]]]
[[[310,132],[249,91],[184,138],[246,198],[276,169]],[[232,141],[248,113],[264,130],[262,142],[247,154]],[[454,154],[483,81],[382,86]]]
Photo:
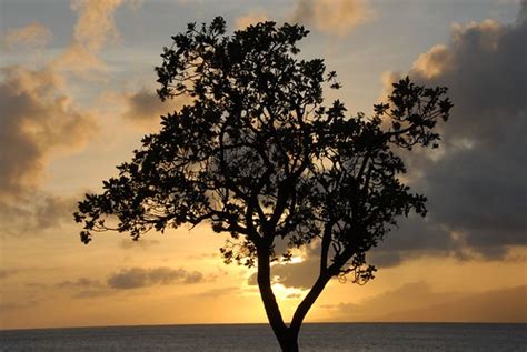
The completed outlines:
[[[30,47],[41,49],[51,39],[51,31],[39,22],[32,22],[22,28],[8,29],[3,36],[2,43],[9,49],[18,47]]]

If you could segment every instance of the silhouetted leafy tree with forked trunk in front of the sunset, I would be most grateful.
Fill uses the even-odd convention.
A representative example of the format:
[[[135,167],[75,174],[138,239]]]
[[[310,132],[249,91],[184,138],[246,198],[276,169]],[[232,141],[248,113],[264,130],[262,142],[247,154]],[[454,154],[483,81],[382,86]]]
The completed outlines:
[[[453,107],[446,88],[424,88],[408,78],[394,84],[374,115],[347,117],[336,100],[324,105],[322,88],[338,89],[324,60],[300,60],[298,24],[261,22],[226,34],[222,18],[188,24],[163,48],[156,68],[159,97],[192,102],[161,117],[119,177],[103,192],[87,194],[74,214],[81,240],[92,232],[130,232],[209,223],[228,232],[226,263],[257,266],[269,323],[284,351],[298,351],[309,309],[331,278],[364,283],[375,266],[366,252],[410,211],[425,215],[426,198],[410,193],[399,175],[397,151],[437,147],[434,132]],[[107,223],[117,219],[113,227]],[[277,241],[287,241],[277,253]],[[272,292],[270,264],[291,249],[317,243],[320,270],[289,325]]]

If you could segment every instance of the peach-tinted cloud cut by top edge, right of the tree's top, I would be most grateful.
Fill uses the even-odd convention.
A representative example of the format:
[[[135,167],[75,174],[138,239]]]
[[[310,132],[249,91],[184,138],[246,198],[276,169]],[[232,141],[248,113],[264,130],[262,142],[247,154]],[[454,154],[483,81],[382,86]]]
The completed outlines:
[[[298,0],[291,21],[344,36],[371,17],[371,9],[362,0]]]

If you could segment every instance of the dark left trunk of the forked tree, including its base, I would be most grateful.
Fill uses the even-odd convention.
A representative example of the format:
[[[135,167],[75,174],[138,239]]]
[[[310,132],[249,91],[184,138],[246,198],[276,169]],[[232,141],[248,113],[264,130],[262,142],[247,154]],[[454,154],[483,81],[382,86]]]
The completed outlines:
[[[294,332],[284,322],[280,308],[271,288],[269,253],[258,252],[258,288],[269,324],[284,352],[298,352],[298,331]]]

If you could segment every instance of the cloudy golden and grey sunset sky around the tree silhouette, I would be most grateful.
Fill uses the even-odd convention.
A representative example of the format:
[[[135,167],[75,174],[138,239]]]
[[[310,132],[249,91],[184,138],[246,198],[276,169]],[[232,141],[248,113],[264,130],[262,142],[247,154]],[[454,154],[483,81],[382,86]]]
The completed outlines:
[[[266,322],[255,271],[222,263],[206,224],[102,233],[72,212],[116,175],[159,117],[153,67],[188,22],[272,20],[310,34],[348,112],[371,114],[409,74],[455,104],[437,151],[405,157],[429,213],[368,253],[365,285],[331,281],[327,321],[527,322],[527,2],[514,0],[0,0],[0,329]],[[286,320],[315,248],[272,268]]]

